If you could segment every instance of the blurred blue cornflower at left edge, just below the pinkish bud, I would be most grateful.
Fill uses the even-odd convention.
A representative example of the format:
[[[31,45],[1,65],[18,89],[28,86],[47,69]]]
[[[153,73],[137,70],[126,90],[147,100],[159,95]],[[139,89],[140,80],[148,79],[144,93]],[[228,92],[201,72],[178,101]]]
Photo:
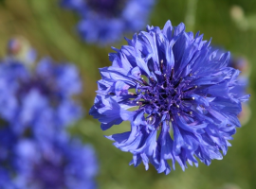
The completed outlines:
[[[73,99],[82,91],[81,78],[72,64],[50,58],[28,61],[13,53],[1,60],[0,117],[18,133],[31,129],[36,137],[50,137],[82,116]]]

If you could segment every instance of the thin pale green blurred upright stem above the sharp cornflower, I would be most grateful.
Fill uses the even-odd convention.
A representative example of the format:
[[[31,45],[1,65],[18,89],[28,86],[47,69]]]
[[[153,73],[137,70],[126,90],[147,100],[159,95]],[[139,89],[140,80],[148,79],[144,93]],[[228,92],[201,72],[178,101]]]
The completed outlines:
[[[197,0],[188,0],[188,8],[185,15],[185,25],[188,31],[193,31],[195,24],[196,4]]]

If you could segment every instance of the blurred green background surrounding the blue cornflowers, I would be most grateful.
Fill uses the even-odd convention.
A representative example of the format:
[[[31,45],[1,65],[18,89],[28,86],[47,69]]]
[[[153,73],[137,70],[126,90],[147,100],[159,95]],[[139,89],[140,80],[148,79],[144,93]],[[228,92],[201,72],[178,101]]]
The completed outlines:
[[[228,49],[236,57],[245,57],[250,63],[248,93],[251,118],[237,129],[228,154],[222,161],[214,160],[207,166],[189,166],[185,172],[176,165],[168,176],[157,174],[150,166],[145,171],[141,164],[129,166],[132,154],[121,152],[103,137],[128,129],[128,123],[102,131],[100,123],[88,115],[93,105],[96,81],[101,78],[98,68],[109,66],[110,46],[83,43],[76,35],[79,17],[61,9],[58,0],[0,0],[0,57],[6,54],[11,37],[23,36],[37,50],[39,57],[51,56],[55,60],[76,64],[81,72],[81,95],[85,115],[70,132],[83,142],[95,146],[102,189],[254,189],[256,188],[256,1],[255,0],[158,0],[150,16],[149,25],[164,26],[171,20],[174,26],[184,22],[187,31],[204,33],[204,39]],[[146,26],[145,26],[146,27]],[[131,38],[132,35],[126,37]],[[123,40],[113,44],[120,47]],[[67,86],[68,87],[68,86]]]

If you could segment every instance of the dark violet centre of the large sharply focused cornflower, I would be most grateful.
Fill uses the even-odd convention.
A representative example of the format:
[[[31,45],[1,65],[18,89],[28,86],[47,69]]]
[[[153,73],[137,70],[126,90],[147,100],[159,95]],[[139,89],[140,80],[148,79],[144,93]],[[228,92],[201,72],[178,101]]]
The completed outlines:
[[[148,81],[141,78],[141,85],[137,90],[135,101],[139,110],[144,110],[148,114],[146,117],[149,124],[162,121],[174,121],[174,116],[192,116],[192,92],[197,88],[190,85],[190,77],[174,77],[174,68],[171,73],[166,73],[167,69],[160,62],[160,73],[157,78],[149,77]],[[156,124],[157,125],[157,124]]]

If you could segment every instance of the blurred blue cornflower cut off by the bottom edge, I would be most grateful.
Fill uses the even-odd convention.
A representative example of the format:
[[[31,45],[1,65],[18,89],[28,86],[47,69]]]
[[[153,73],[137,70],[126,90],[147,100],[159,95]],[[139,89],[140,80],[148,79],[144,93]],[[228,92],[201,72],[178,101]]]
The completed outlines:
[[[94,189],[98,162],[91,146],[79,141],[51,140],[41,146],[21,140],[15,149],[18,169],[13,184],[19,189]]]

